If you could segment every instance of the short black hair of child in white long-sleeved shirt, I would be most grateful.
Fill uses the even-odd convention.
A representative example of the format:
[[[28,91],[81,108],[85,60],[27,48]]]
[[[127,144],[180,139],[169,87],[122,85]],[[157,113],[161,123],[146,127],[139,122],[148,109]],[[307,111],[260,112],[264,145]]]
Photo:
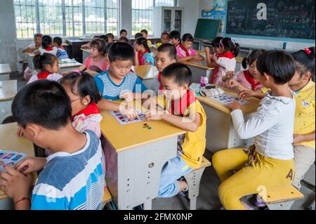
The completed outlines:
[[[261,74],[271,76],[276,84],[283,85],[294,76],[296,64],[292,56],[284,51],[265,51],[258,57],[257,69]]]

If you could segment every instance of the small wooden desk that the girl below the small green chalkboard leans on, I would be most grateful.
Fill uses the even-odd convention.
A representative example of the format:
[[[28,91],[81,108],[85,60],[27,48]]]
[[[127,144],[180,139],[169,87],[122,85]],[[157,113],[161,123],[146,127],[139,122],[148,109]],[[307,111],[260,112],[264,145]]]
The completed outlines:
[[[190,70],[193,74],[192,82],[199,83],[201,77],[208,77],[210,79],[211,75],[213,74],[213,67],[207,67],[206,61],[201,62],[182,62],[184,65],[190,67]]]

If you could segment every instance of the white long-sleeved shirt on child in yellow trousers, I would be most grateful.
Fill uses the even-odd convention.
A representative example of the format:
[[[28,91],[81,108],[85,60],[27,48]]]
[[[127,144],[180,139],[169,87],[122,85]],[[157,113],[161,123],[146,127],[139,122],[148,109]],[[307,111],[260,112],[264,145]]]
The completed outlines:
[[[239,137],[254,137],[256,151],[265,157],[293,159],[294,98],[275,97],[267,93],[260,105],[258,112],[247,121],[244,121],[242,110],[231,113]]]

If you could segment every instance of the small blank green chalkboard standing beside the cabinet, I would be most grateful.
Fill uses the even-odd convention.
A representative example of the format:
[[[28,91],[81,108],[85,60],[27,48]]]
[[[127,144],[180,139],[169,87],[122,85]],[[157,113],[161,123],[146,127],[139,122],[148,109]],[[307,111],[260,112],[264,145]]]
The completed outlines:
[[[220,20],[197,20],[195,39],[212,40],[217,36]]]

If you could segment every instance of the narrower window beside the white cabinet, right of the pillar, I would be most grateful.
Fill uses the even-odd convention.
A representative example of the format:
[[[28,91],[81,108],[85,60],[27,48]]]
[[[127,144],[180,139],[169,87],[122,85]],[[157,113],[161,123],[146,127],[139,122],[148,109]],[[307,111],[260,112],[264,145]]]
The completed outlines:
[[[132,0],[132,34],[142,29],[152,34],[154,6],[176,6],[176,0]]]

